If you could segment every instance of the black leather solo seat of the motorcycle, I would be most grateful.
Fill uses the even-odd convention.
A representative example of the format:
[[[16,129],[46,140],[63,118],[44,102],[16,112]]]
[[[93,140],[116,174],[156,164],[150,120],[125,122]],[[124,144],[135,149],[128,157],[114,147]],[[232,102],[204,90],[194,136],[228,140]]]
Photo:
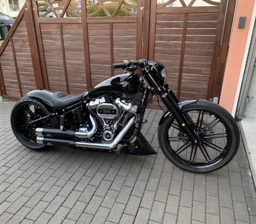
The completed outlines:
[[[73,96],[73,95],[68,95],[66,93],[62,93],[62,92],[56,92],[52,95],[51,101],[55,108],[63,108],[81,101],[82,98],[87,94],[88,92],[85,92],[77,96]]]

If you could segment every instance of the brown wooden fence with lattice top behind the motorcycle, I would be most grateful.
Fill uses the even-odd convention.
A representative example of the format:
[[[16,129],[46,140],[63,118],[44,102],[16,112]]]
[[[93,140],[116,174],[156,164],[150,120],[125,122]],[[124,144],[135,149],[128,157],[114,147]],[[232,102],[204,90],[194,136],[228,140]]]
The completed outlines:
[[[219,97],[235,1],[197,1],[54,0],[38,7],[27,0],[0,47],[0,95],[19,98],[36,88],[79,94],[121,72],[111,63],[146,58],[166,66],[180,99]]]

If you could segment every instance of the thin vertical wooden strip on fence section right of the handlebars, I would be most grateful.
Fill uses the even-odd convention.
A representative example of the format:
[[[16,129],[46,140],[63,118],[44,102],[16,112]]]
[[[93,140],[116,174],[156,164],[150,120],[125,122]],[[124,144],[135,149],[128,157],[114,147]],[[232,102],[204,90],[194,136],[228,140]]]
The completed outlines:
[[[181,46],[181,59],[179,61],[179,77],[178,77],[178,87],[177,87],[177,98],[181,96],[181,81],[182,81],[182,71],[183,71],[183,62],[184,62],[184,52],[185,52],[185,42],[186,42],[186,32],[187,32],[187,16],[184,14],[184,26],[182,34],[182,46]]]

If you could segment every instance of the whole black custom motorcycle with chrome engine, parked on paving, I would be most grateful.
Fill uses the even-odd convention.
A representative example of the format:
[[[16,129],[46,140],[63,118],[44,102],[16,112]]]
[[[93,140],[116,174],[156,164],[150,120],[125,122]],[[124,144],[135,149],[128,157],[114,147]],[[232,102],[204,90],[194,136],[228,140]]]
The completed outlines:
[[[112,64],[112,68],[125,73],[78,96],[30,91],[11,112],[18,141],[34,150],[58,145],[155,154],[140,130],[149,96],[158,95],[167,108],[159,122],[158,141],[171,162],[185,170],[207,172],[232,160],[239,147],[239,128],[223,107],[206,100],[179,102],[160,63],[141,59]]]

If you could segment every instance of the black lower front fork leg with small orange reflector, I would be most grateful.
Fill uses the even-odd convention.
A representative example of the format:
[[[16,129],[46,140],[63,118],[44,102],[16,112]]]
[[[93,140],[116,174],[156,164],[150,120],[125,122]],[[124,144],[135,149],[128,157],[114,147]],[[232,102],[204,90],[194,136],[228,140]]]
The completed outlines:
[[[185,134],[190,138],[191,141],[195,141],[197,139],[197,136],[193,128],[191,127],[190,123],[185,119],[177,103],[174,102],[174,99],[171,95],[171,90],[169,90],[167,93],[160,94],[160,96],[161,96],[162,102],[165,104],[167,109],[171,112],[171,114],[176,119],[180,127],[182,127]]]

